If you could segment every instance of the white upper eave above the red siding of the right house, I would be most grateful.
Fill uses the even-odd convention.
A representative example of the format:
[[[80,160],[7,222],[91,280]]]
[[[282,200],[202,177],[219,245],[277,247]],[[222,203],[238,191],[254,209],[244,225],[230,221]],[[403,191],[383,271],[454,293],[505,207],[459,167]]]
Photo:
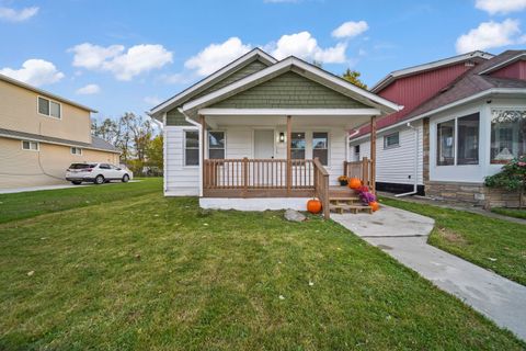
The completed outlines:
[[[402,77],[418,75],[418,73],[421,73],[421,72],[426,71],[426,70],[433,70],[433,69],[436,69],[436,68],[439,68],[439,67],[450,66],[450,65],[459,64],[459,63],[462,63],[462,61],[471,60],[471,59],[474,59],[474,58],[490,59],[490,58],[493,58],[493,57],[494,56],[492,54],[477,50],[477,52],[471,52],[471,53],[467,53],[467,54],[462,54],[462,55],[457,55],[457,56],[439,59],[439,60],[423,64],[423,65],[418,65],[418,66],[412,66],[412,67],[395,70],[395,71],[390,72],[389,75],[387,75],[386,77],[384,77],[379,82],[377,82],[370,89],[370,91],[377,93],[380,90],[382,90],[384,88],[386,88],[387,86],[389,86],[392,81],[395,81],[399,78],[402,78]]]

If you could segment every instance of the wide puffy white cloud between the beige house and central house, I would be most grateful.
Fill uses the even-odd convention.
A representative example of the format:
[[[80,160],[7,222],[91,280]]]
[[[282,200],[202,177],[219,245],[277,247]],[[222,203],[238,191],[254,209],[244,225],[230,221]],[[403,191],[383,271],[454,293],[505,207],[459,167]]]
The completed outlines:
[[[135,45],[125,52],[122,45],[107,47],[84,43],[69,49],[75,54],[73,66],[112,72],[118,80],[159,69],[173,61],[173,55],[162,45]]]

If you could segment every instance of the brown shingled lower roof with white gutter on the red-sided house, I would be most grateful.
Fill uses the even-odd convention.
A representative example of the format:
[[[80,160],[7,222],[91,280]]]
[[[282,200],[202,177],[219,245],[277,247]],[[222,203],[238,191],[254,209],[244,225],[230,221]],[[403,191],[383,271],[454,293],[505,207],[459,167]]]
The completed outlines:
[[[493,58],[480,64],[458,77],[451,84],[420,104],[413,111],[397,121],[389,121],[389,116],[378,121],[378,131],[388,129],[408,121],[425,117],[433,113],[449,109],[456,104],[465,103],[473,99],[482,98],[491,93],[518,93],[526,95],[526,80],[496,78],[487,72],[504,67],[504,63],[511,64],[516,57],[522,57],[526,50],[506,50]],[[388,123],[382,123],[382,122]],[[369,133],[367,126],[359,129],[354,138],[363,137]]]

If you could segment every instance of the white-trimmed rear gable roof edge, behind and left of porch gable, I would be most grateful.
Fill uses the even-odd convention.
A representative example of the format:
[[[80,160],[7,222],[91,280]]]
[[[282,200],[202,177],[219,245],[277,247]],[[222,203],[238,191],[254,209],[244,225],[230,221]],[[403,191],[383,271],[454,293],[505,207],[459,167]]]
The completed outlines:
[[[183,90],[176,95],[155,106],[149,111],[149,115],[152,117],[159,118],[162,113],[168,112],[169,110],[172,110],[174,107],[178,107],[181,103],[188,101],[193,97],[206,90],[211,84],[219,82],[225,77],[228,77],[229,75],[236,72],[237,70],[243,68],[244,66],[255,60],[260,60],[266,64],[267,66],[277,63],[277,60],[274,57],[266,54],[261,48],[256,47],[248,52],[243,56],[237,58],[236,60],[231,61],[230,64],[226,65],[225,67],[218,69],[210,76],[199,80],[198,82],[188,87],[187,89]]]

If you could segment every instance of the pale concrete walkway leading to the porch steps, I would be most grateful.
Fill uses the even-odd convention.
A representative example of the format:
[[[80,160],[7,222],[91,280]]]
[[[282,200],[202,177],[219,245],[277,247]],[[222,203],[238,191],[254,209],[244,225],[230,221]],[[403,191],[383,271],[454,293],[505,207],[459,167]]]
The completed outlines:
[[[433,219],[389,206],[331,218],[526,341],[526,286],[427,245]]]

